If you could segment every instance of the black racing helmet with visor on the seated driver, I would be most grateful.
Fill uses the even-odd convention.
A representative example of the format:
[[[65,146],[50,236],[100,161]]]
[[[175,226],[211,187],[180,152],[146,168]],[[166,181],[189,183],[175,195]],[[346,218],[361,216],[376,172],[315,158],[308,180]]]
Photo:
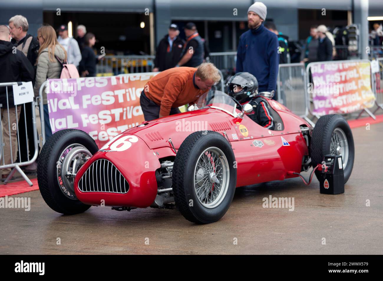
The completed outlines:
[[[229,86],[229,96],[236,99],[239,103],[250,101],[253,96],[258,94],[257,78],[249,72],[236,73],[236,75],[230,78],[227,85]]]

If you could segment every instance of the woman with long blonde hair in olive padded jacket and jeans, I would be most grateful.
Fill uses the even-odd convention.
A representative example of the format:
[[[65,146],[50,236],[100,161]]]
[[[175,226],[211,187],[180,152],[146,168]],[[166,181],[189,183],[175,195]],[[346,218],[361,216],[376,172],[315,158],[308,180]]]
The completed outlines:
[[[59,44],[56,31],[50,25],[41,26],[37,31],[37,39],[40,43],[38,58],[36,61],[36,84],[34,85],[34,96],[39,96],[39,89],[47,79],[60,78],[62,62],[67,60],[67,52]],[[45,140],[52,135],[49,124],[47,93],[43,91],[44,104],[44,128]]]

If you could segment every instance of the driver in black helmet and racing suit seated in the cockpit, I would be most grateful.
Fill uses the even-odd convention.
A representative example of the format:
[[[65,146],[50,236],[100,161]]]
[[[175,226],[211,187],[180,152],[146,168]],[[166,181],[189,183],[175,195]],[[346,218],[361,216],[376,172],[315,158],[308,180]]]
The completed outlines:
[[[228,82],[229,96],[242,105],[250,103],[253,111],[247,116],[262,127],[274,130],[274,120],[270,107],[258,94],[258,81],[248,72],[238,72]]]

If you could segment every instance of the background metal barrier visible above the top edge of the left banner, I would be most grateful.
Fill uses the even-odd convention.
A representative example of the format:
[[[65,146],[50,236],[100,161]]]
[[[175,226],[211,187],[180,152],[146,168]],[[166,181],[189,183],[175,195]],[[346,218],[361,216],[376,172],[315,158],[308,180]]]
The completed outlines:
[[[155,56],[152,55],[106,55],[96,66],[96,73],[115,76],[151,72],[154,58]]]

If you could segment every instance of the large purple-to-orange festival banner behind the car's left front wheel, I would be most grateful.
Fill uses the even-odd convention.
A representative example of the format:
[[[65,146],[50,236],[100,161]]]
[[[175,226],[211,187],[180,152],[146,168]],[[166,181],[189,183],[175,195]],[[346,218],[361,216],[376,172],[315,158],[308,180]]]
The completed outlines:
[[[52,133],[67,128],[83,130],[98,147],[103,146],[144,121],[141,92],[156,74],[49,80],[45,93]]]

